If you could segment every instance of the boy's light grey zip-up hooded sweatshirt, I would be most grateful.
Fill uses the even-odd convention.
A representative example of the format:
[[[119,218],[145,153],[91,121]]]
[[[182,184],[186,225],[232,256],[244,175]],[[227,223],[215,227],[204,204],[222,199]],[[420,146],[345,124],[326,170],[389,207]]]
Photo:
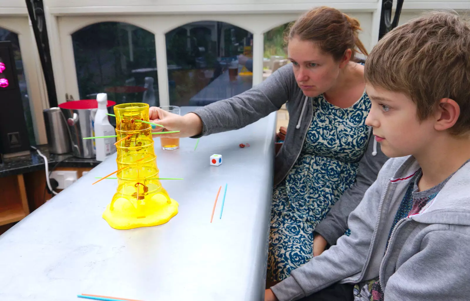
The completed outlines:
[[[348,219],[351,235],[292,271],[271,289],[280,301],[298,300],[338,281],[379,276],[385,301],[470,299],[470,163],[415,215],[388,234],[419,165],[412,156],[387,161]]]

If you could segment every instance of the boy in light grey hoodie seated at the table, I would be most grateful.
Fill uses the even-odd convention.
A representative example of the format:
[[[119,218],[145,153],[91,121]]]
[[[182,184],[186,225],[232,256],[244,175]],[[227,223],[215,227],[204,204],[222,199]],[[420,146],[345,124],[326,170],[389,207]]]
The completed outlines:
[[[314,296],[338,281],[357,284],[343,300],[469,300],[469,24],[432,12],[396,27],[365,77],[366,123],[392,159],[349,216],[351,234],[265,300],[329,300]]]

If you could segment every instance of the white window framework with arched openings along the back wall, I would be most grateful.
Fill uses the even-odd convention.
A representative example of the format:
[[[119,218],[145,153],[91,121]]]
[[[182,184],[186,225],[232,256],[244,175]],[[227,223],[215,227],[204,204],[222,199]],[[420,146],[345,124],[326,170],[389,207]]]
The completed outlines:
[[[58,19],[68,16],[93,18],[94,22],[104,20],[132,21],[129,23],[154,33],[157,64],[160,66],[158,85],[162,105],[169,101],[168,74],[166,46],[163,43],[159,44],[159,42],[164,42],[164,34],[167,31],[189,22],[216,20],[232,23],[252,32],[254,85],[260,83],[263,77],[263,34],[276,26],[295,20],[298,15],[312,7],[327,5],[351,15],[370,13],[371,25],[368,28],[370,42],[368,45],[366,44],[366,48],[370,50],[378,39],[382,0],[334,0],[333,2],[297,0],[296,3],[290,3],[286,0],[266,0],[263,3],[260,2],[247,4],[245,0],[172,0],[171,2],[135,0],[132,1],[132,5],[129,5],[128,0],[44,0],[57,100],[59,103],[65,101],[65,93],[68,90],[66,74],[70,72],[73,77],[76,77],[75,66],[72,70],[64,67],[67,61],[70,62],[70,53],[65,54],[65,52],[70,52],[71,48],[70,46],[62,46],[65,44],[61,43],[58,29]],[[49,108],[49,104],[34,35],[30,25],[25,26],[27,23],[24,20],[28,18],[26,5],[24,0],[0,0],[0,8],[0,26],[19,35],[36,141],[43,144],[47,142],[47,138],[42,110]],[[470,2],[468,0],[405,0],[400,23],[423,10],[442,8],[457,11],[469,10]],[[12,19],[7,17],[20,18],[23,21],[12,23],[10,22]],[[65,60],[64,56],[68,59]],[[72,95],[78,97],[78,89],[75,89]]]

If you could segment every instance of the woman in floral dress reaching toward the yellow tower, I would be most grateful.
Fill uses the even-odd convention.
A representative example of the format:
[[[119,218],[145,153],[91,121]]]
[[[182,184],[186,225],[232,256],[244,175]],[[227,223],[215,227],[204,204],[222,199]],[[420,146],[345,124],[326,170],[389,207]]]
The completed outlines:
[[[364,67],[354,62],[358,52],[367,55],[359,30],[356,19],[337,9],[314,8],[286,36],[292,64],[263,83],[185,116],[150,109],[151,119],[160,119],[165,129],[180,130],[168,137],[197,137],[242,128],[287,102],[290,121],[274,169],[268,282],[287,278],[321,253],[327,241],[336,242],[386,160],[383,155],[371,157],[372,151],[363,157],[370,136],[365,125],[370,100]],[[364,168],[355,185],[361,157]],[[313,241],[315,227],[350,187],[347,200],[329,218],[331,227],[317,231],[321,235]]]

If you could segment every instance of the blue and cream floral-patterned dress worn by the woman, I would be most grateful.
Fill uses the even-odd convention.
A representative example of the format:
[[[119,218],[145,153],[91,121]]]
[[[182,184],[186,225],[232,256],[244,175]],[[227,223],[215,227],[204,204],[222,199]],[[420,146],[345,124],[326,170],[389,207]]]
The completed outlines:
[[[368,142],[370,100],[364,93],[349,108],[313,98],[314,114],[302,151],[287,177],[274,187],[268,275],[281,281],[313,257],[313,231],[354,184]]]

